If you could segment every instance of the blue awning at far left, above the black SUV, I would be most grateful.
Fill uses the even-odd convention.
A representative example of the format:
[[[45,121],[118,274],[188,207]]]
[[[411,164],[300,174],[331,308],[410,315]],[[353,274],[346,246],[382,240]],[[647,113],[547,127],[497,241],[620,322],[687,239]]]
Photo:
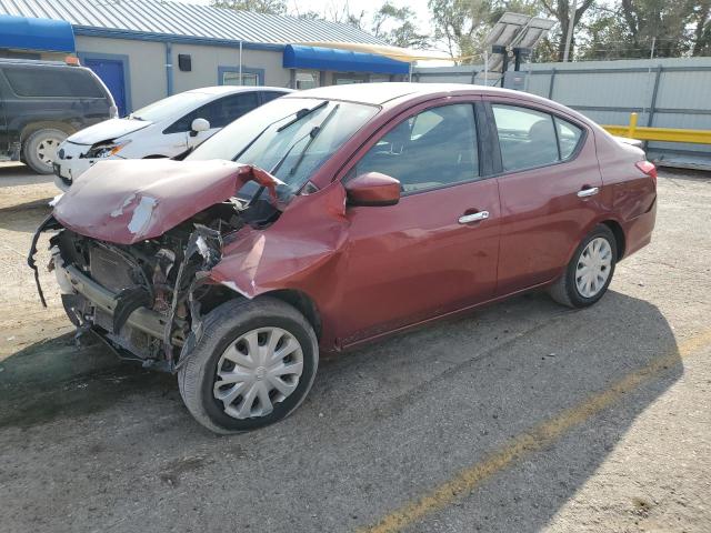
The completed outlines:
[[[66,20],[0,14],[0,48],[73,52],[74,31]]]

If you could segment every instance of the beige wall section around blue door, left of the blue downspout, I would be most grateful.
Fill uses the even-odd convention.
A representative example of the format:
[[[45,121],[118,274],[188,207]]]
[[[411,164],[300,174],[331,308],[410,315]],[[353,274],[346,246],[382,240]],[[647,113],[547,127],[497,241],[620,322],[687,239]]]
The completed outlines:
[[[131,109],[128,111],[166,98],[168,82],[162,42],[77,36],[77,53],[126,56],[130,72]]]

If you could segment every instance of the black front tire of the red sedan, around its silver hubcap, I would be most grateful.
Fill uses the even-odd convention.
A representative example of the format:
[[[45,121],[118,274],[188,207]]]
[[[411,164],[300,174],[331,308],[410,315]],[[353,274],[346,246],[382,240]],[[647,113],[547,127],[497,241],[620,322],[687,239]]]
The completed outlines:
[[[224,412],[213,395],[217,365],[224,350],[242,334],[259,328],[286,330],[301,345],[303,370],[297,389],[273,411],[259,418],[237,419]],[[263,428],[293,412],[306,399],[319,363],[319,348],[313,328],[296,308],[276,298],[230,300],[203,319],[202,338],[178,372],[180,395],[190,414],[207,429],[231,434]]]

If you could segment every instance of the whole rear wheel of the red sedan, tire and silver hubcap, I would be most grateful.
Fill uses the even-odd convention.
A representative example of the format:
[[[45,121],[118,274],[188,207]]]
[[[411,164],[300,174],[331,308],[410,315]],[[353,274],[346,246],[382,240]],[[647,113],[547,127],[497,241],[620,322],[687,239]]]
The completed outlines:
[[[563,275],[550,289],[558,303],[569,308],[592,305],[607,292],[618,257],[614,234],[598,225],[580,243]]]

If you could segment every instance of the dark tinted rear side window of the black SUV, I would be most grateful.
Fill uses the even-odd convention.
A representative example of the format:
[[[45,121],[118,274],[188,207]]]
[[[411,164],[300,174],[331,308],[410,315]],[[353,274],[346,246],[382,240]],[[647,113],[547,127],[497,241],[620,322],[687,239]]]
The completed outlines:
[[[94,77],[83,69],[3,67],[2,71],[19,97],[106,97]]]

